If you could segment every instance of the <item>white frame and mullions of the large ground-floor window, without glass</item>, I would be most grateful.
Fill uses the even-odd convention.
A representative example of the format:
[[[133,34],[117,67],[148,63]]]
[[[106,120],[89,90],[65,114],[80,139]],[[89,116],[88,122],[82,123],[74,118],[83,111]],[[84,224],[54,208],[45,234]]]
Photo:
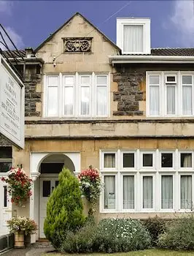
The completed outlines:
[[[141,155],[144,153],[153,153],[153,161],[155,168],[142,167]],[[104,154],[115,153],[115,168],[104,168]],[[135,167],[123,168],[123,153],[135,154]],[[162,153],[173,154],[173,167],[160,167],[160,158]],[[192,167],[181,167],[181,154],[192,154]],[[155,157],[154,157],[155,156]],[[185,150],[101,150],[100,151],[100,170],[102,180],[104,176],[115,176],[115,209],[104,208],[104,192],[100,197],[100,213],[147,213],[147,212],[190,212],[190,209],[180,208],[180,178],[181,176],[192,176],[192,200],[194,199],[194,151]],[[134,176],[135,184],[135,205],[134,209],[123,209],[123,176]],[[142,178],[143,176],[153,177],[153,208],[145,209],[142,207],[143,192]],[[161,176],[173,176],[173,208],[161,208]],[[140,192],[140,193],[139,193]]]

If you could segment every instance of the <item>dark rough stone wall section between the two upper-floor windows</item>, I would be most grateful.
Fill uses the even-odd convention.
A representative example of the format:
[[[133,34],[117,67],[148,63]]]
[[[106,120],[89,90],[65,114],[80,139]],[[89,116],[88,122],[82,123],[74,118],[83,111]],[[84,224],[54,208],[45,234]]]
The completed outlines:
[[[118,84],[118,91],[114,92],[114,101],[118,102],[114,116],[142,116],[139,111],[139,101],[143,100],[141,83],[144,81],[145,72],[133,70],[118,70],[113,74],[113,81]]]

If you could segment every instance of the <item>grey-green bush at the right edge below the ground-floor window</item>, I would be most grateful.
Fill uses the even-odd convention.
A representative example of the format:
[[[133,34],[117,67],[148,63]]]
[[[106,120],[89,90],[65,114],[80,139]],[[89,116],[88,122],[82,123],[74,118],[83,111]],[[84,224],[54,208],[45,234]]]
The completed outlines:
[[[159,236],[158,246],[183,250],[194,249],[194,215],[174,219]]]

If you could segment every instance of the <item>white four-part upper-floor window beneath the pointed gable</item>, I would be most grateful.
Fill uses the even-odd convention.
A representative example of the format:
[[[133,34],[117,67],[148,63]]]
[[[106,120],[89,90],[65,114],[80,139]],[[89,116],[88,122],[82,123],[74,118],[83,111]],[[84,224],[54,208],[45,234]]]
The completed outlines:
[[[44,117],[106,117],[109,77],[97,74],[47,75]]]

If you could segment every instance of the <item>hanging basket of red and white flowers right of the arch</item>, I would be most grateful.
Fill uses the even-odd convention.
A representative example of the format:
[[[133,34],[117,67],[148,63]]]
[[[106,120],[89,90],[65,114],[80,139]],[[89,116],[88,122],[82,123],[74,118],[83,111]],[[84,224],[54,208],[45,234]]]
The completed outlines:
[[[82,195],[85,195],[86,199],[90,203],[88,215],[91,216],[96,210],[96,203],[101,193],[101,189],[103,188],[100,173],[97,168],[90,165],[87,170],[81,171],[78,179]]]

